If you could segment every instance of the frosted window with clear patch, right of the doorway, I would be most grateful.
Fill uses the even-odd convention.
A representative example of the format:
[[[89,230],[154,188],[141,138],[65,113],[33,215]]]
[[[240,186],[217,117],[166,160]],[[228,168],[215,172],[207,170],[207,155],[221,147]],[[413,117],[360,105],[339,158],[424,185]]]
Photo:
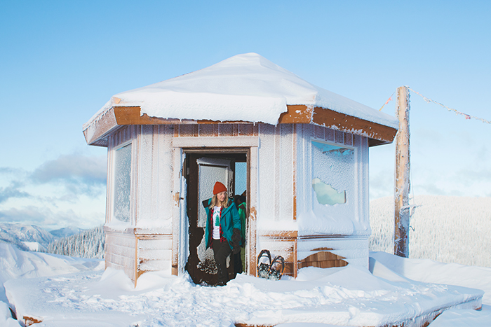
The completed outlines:
[[[314,207],[319,204],[344,207],[349,203],[355,188],[354,162],[354,149],[312,141]],[[351,207],[338,208],[339,212],[332,214],[350,214]]]

